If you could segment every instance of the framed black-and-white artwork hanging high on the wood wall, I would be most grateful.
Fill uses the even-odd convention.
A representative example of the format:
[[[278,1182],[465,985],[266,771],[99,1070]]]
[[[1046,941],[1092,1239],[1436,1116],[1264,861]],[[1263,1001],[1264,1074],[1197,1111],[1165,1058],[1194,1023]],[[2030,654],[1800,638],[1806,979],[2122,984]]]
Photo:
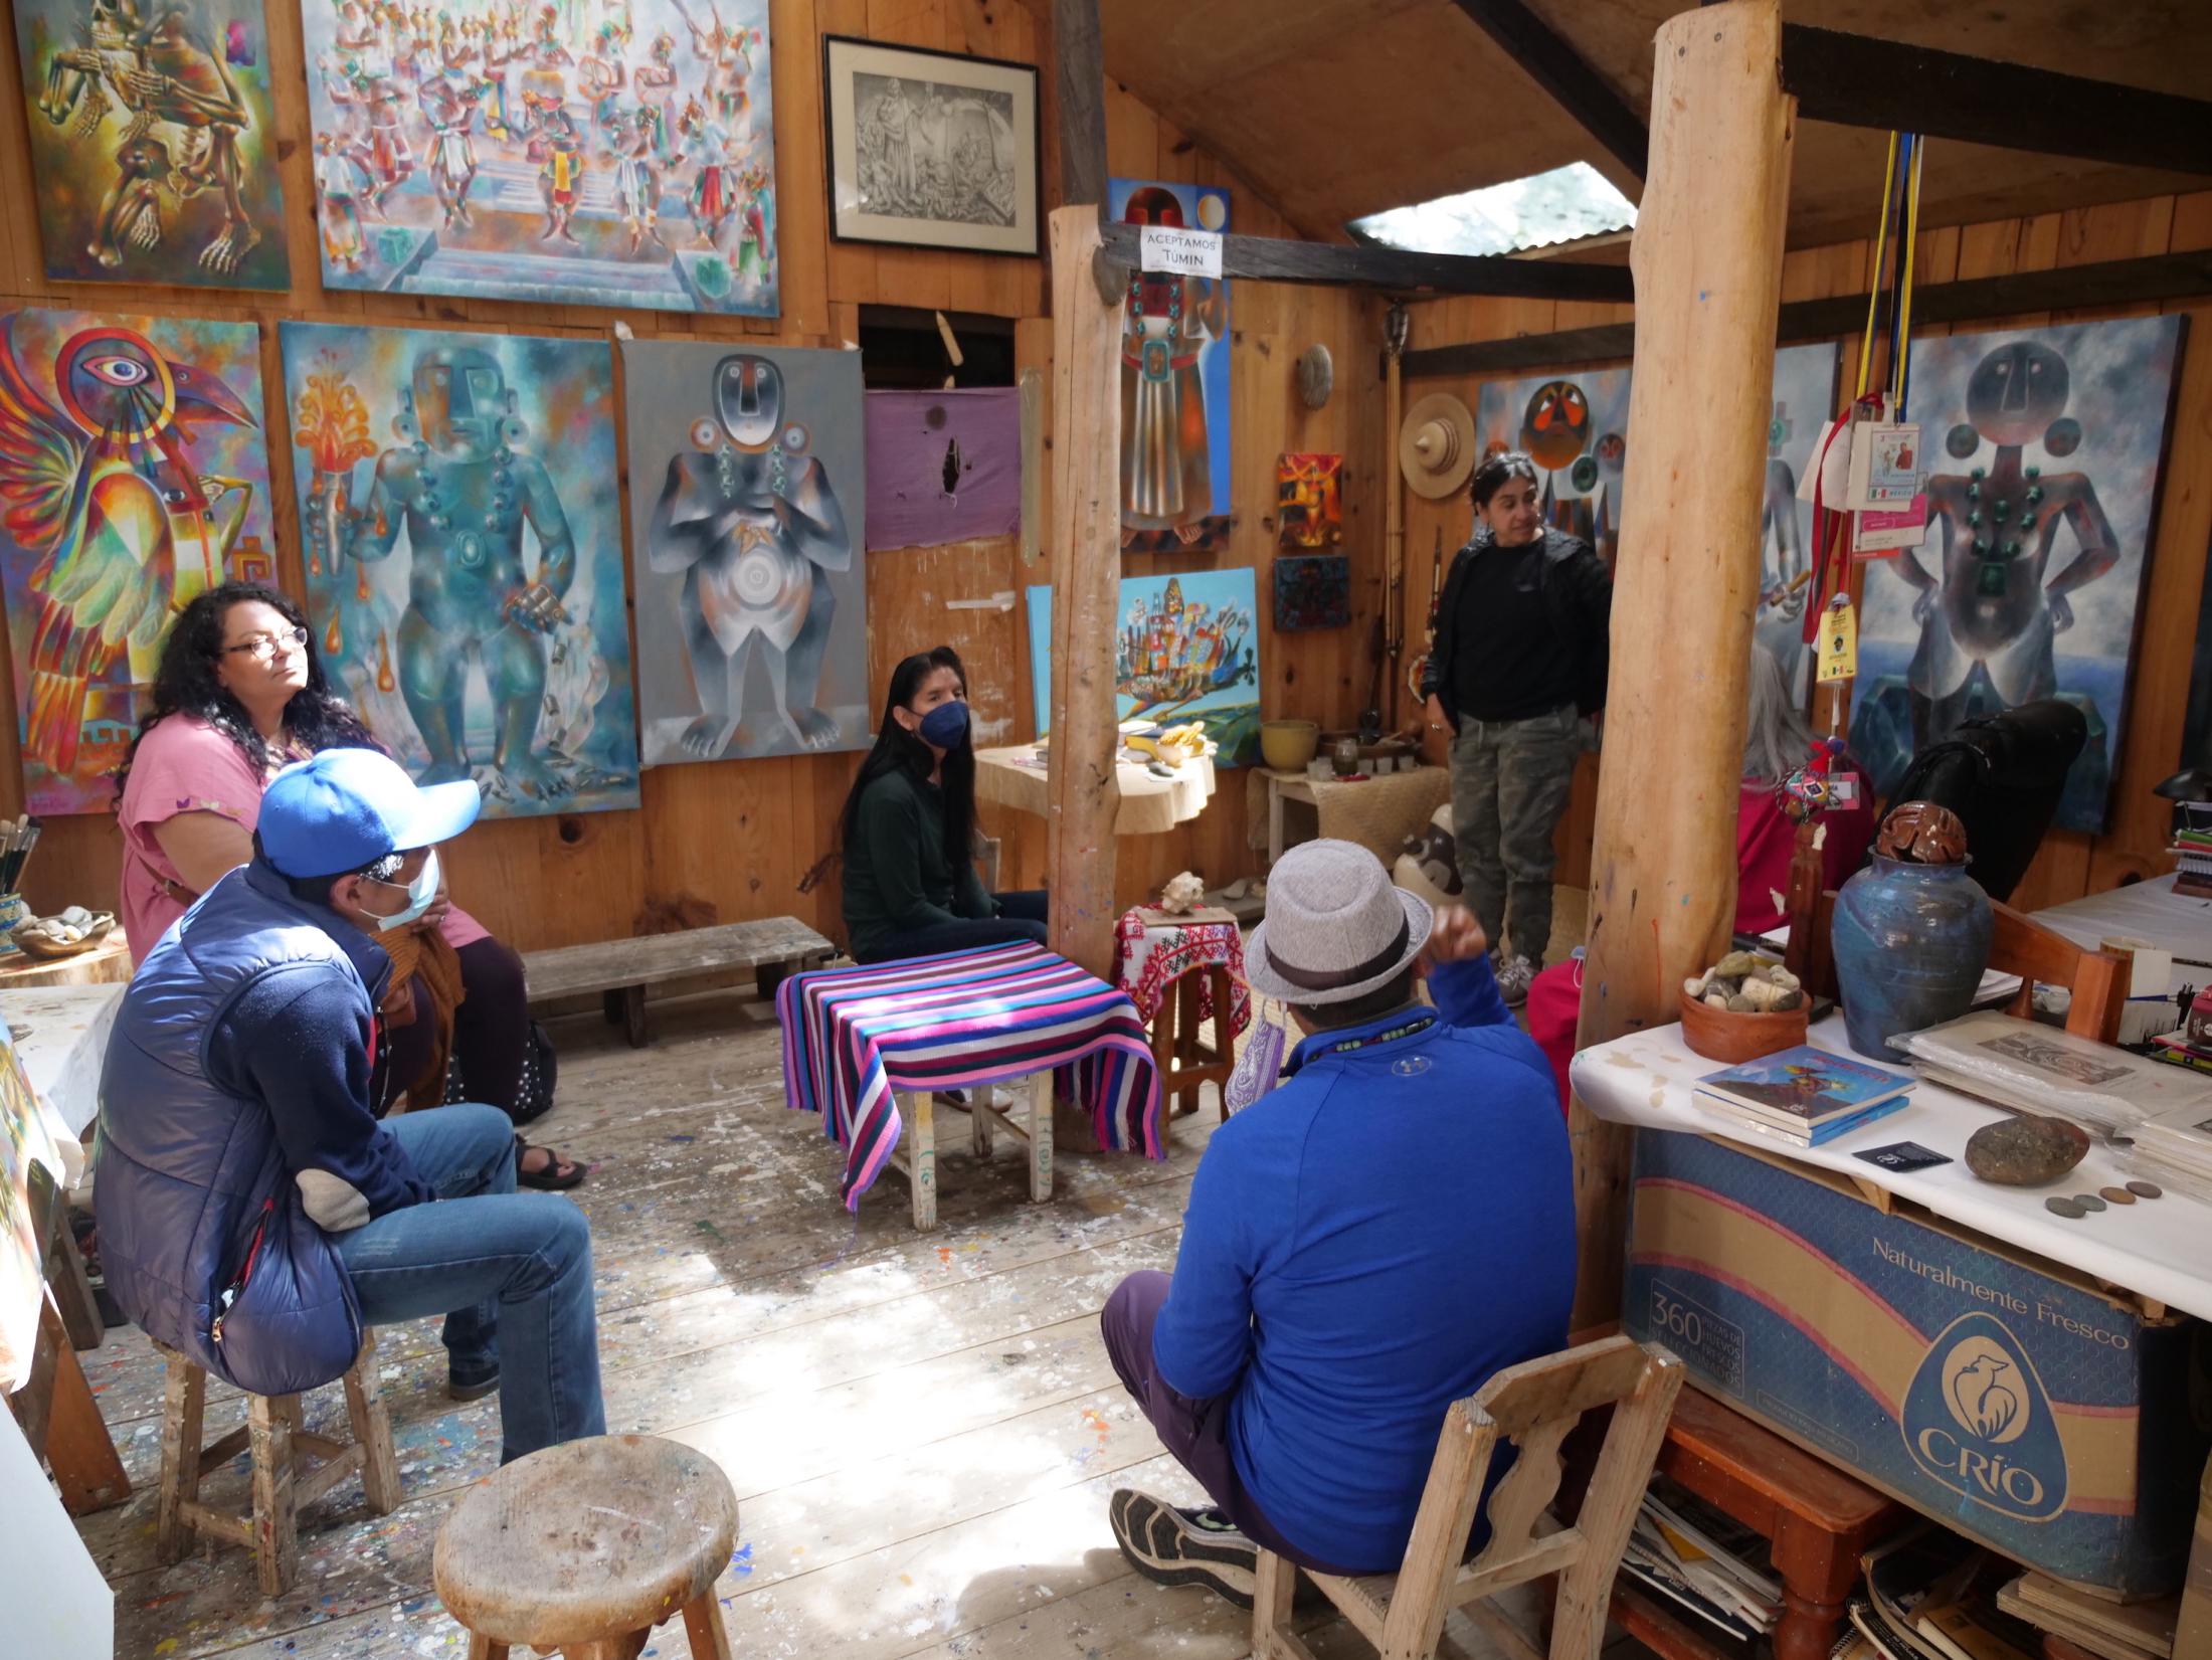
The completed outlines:
[[[1037,255],[1037,71],[823,38],[830,232]]]

